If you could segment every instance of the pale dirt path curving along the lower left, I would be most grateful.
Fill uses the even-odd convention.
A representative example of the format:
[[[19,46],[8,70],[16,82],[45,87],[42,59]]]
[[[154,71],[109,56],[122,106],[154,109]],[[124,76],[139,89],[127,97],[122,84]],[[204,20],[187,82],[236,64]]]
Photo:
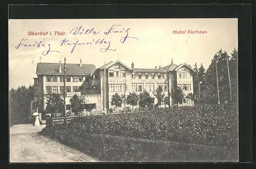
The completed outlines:
[[[45,125],[10,128],[10,162],[95,162],[88,155],[40,135]]]

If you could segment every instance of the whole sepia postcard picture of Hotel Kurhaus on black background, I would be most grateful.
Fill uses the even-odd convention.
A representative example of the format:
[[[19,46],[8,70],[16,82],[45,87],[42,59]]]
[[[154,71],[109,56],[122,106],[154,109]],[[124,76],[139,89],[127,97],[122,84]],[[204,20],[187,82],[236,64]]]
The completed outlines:
[[[238,18],[9,19],[10,162],[238,162]]]

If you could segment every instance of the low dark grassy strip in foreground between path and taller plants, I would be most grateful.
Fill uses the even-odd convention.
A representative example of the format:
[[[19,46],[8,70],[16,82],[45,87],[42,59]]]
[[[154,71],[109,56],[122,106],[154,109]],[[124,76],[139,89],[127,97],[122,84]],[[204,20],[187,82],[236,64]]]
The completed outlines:
[[[88,134],[56,127],[54,132],[61,142],[99,161],[234,161],[238,158],[237,152],[221,147]]]

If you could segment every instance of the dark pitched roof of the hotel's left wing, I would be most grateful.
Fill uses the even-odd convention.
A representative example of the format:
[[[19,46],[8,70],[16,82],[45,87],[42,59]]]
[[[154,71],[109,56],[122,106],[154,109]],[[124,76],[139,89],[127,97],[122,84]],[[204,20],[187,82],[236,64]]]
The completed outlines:
[[[59,73],[59,63],[37,63],[36,75],[62,75],[64,64],[61,63],[61,73]],[[85,75],[91,74],[96,69],[93,64],[66,64],[67,75]]]

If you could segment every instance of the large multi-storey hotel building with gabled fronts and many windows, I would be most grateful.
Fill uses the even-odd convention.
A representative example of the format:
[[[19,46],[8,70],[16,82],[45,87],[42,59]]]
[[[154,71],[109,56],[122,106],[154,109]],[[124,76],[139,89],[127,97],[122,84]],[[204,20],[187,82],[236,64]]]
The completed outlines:
[[[47,109],[48,97],[58,93],[63,97],[63,63],[38,63],[37,77],[34,78],[35,97],[31,102],[32,110],[38,112]],[[86,103],[84,110],[88,112],[108,112],[111,106],[111,96],[115,93],[137,94],[146,90],[154,99],[154,91],[162,86],[165,97],[170,97],[170,91],[181,88],[185,94],[193,93],[194,70],[186,63],[176,65],[172,62],[164,67],[136,68],[119,60],[111,61],[96,68],[93,64],[66,64],[66,107],[67,113],[72,112],[70,99],[74,94],[84,96]],[[169,102],[169,103],[168,103]],[[161,106],[173,105],[174,99],[161,102]],[[193,106],[193,101],[184,99],[181,106]],[[139,106],[139,105],[138,105]],[[131,107],[126,104],[126,107]],[[136,106],[135,106],[136,107]],[[124,104],[118,109],[123,109]]]

